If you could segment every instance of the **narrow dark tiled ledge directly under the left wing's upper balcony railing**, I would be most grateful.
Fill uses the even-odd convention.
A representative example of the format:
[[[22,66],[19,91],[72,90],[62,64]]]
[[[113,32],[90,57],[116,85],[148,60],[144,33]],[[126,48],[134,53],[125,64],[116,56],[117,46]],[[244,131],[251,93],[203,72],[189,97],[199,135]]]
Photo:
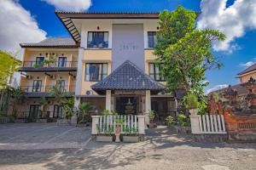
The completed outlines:
[[[26,71],[26,72],[41,72],[41,71],[77,71],[77,67],[20,67],[19,71]]]

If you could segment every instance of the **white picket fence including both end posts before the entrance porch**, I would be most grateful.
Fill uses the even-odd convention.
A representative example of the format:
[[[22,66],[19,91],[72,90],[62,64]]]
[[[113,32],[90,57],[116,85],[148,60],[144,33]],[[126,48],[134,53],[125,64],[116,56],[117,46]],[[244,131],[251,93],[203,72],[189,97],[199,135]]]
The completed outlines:
[[[91,134],[114,133],[116,123],[121,121],[120,133],[145,133],[145,116],[119,115],[119,116],[91,116]]]

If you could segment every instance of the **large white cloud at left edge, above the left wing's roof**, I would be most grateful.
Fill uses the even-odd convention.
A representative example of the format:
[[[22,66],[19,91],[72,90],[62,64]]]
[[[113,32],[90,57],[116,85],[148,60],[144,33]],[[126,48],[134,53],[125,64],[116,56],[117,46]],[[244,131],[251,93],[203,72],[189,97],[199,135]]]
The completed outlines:
[[[25,8],[13,0],[0,1],[0,49],[16,53],[20,42],[38,42],[46,32]]]

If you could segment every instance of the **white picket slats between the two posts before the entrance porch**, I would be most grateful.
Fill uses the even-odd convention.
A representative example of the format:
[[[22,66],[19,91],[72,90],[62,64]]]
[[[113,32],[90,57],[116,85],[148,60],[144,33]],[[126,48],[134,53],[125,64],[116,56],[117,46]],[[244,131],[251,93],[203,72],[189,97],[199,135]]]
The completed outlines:
[[[138,118],[137,115],[119,115],[119,116],[100,116],[99,122],[97,124],[97,130],[99,133],[112,132],[114,133],[114,127],[116,125],[116,120],[122,120],[121,132],[127,133],[124,128],[128,129],[138,129]]]

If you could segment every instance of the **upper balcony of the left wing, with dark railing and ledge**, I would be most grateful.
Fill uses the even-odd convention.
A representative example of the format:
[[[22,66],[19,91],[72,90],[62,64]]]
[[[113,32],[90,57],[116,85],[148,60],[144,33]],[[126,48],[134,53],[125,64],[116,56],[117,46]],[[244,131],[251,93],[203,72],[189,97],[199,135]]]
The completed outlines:
[[[77,71],[78,61],[56,61],[54,63],[43,64],[38,61],[23,61],[20,71],[40,72],[40,71]]]

